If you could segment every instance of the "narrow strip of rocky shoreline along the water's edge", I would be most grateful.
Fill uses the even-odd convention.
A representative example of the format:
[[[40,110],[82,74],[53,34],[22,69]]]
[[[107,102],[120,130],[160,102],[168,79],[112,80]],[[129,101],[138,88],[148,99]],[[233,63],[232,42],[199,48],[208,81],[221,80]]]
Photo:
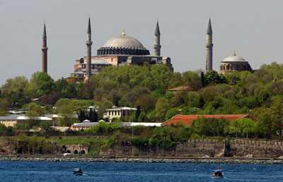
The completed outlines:
[[[153,157],[50,157],[1,156],[0,162],[137,162],[137,163],[203,163],[203,164],[283,164],[283,159],[272,158],[153,158]]]

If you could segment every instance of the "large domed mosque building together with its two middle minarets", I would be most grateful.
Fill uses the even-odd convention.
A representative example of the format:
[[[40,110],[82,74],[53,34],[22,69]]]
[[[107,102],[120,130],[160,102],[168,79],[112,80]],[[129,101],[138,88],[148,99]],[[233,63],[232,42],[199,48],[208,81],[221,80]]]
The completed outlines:
[[[144,65],[149,64],[165,64],[171,71],[173,66],[169,57],[161,56],[161,33],[158,22],[154,32],[154,55],[149,53],[139,40],[129,37],[123,29],[122,35],[111,38],[103,47],[97,50],[97,56],[91,56],[91,23],[88,19],[87,31],[87,55],[76,60],[74,65],[74,73],[70,74],[70,78],[79,78],[84,80],[93,74],[97,74],[102,68],[107,66],[123,66],[123,65]],[[69,81],[71,79],[69,78]]]

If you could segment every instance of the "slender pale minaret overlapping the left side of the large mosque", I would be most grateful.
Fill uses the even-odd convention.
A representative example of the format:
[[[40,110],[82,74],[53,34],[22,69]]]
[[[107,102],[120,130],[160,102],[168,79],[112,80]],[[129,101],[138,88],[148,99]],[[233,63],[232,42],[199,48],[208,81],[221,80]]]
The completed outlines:
[[[86,35],[86,80],[91,78],[91,17],[88,18],[88,32]]]

